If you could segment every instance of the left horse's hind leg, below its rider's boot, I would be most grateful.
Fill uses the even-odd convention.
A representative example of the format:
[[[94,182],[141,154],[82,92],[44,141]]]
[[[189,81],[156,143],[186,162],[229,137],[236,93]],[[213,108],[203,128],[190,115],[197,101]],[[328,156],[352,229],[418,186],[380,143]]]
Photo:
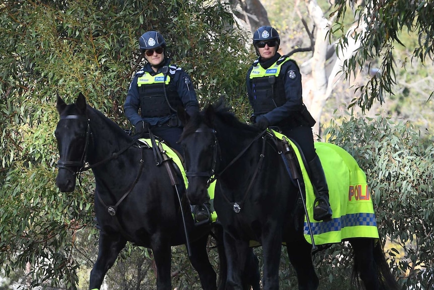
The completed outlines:
[[[216,290],[217,275],[209,263],[208,253],[206,252],[206,244],[208,236],[205,235],[197,241],[191,242],[191,257],[190,262],[196,269],[200,284],[203,290]]]

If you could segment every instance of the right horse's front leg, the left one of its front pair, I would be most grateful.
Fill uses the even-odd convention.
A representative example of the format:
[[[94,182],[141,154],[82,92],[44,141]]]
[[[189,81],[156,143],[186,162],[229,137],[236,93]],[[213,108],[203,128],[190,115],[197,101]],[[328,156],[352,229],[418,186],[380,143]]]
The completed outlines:
[[[243,271],[246,260],[251,254],[249,243],[234,239],[229,233],[224,232],[226,259],[228,262],[228,277],[226,288],[234,290],[243,289]]]

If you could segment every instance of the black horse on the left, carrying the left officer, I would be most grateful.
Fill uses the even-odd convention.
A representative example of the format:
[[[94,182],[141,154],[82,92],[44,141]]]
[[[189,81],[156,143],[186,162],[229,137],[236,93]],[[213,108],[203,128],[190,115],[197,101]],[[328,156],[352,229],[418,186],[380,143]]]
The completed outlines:
[[[207,240],[213,230],[219,237],[221,226],[195,226],[183,182],[175,191],[164,165],[157,166],[153,150],[138,146],[114,122],[86,104],[82,93],[74,104],[57,96],[60,120],[55,136],[60,153],[56,185],[71,192],[78,173],[89,168],[95,176],[95,212],[101,228],[98,258],[90,274],[90,289],[99,289],[127,241],[152,249],[157,265],[157,288],[171,290],[171,246],[186,243],[185,228],[191,242],[190,260],[203,289],[217,288],[216,273],[208,260]],[[85,167],[87,164],[87,167]],[[173,179],[173,177],[172,177]],[[181,201],[180,201],[181,200]],[[182,207],[180,206],[182,203]],[[182,213],[184,214],[185,227]],[[220,267],[226,269],[223,242],[217,241]],[[259,270],[253,251],[246,267],[246,282],[259,288]],[[257,274],[255,274],[257,273]],[[225,288],[226,271],[219,288]],[[250,289],[250,287],[248,287]]]

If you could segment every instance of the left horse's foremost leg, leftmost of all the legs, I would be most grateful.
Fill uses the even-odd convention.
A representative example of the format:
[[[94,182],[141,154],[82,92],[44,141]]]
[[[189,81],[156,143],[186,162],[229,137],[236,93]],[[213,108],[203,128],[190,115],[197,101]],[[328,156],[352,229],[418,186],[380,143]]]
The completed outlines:
[[[98,258],[91,271],[89,289],[99,289],[101,287],[105,274],[113,266],[125,244],[126,240],[120,235],[108,235],[100,230]]]

